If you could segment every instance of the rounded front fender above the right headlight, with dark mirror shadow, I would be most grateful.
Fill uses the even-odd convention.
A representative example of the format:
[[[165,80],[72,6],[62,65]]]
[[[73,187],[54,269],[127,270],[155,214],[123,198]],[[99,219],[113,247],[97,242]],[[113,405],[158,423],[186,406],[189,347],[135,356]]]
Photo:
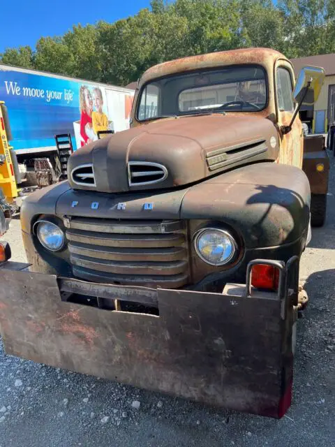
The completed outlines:
[[[221,221],[241,233],[246,249],[274,247],[306,240],[310,203],[301,169],[258,163],[193,186],[181,204],[181,219]]]

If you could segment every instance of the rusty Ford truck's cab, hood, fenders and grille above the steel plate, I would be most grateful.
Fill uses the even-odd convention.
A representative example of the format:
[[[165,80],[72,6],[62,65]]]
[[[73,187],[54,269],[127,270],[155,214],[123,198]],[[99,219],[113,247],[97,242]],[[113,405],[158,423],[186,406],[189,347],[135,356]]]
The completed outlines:
[[[89,281],[218,290],[253,258],[300,256],[310,187],[293,89],[274,50],[149,69],[132,128],[77,150],[68,182],[23,205],[29,262]],[[51,251],[39,230],[48,219],[64,235]]]

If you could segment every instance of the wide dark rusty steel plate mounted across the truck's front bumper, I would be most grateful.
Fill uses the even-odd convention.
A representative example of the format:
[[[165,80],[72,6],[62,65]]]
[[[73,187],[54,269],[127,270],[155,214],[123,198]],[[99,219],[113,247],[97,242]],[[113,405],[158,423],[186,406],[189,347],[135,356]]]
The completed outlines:
[[[278,293],[253,291],[248,279],[222,294],[92,284],[7,263],[0,268],[6,353],[281,418],[292,393],[292,304],[287,268],[270,262],[281,268]],[[79,295],[91,297],[87,305],[69,301]],[[116,298],[156,307],[159,315],[110,310]]]

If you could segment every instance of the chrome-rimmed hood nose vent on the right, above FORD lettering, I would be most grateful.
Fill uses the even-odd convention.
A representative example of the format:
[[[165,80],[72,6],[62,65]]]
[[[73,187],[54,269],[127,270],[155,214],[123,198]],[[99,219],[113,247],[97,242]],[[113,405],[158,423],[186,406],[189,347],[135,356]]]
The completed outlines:
[[[129,161],[129,186],[139,186],[163,182],[168,177],[168,170],[159,163],[149,161]]]

